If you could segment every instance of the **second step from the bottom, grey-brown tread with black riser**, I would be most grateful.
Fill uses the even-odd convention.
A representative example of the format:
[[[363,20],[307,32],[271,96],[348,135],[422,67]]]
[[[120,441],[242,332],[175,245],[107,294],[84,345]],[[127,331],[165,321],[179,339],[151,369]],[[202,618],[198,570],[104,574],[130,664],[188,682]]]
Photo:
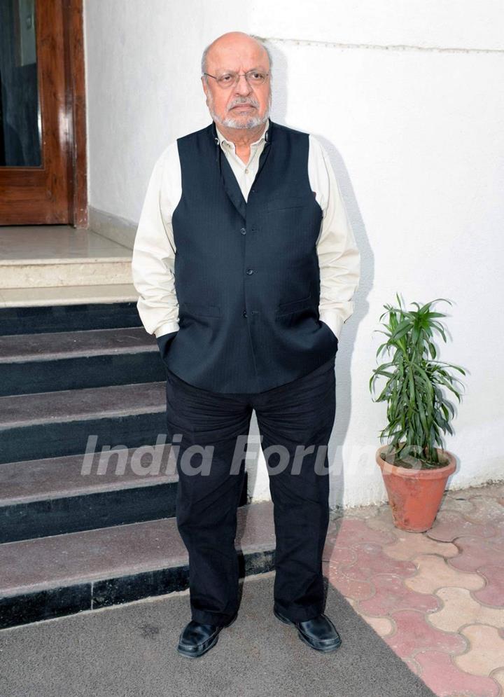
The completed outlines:
[[[174,517],[175,454],[162,443],[0,464],[0,543]]]

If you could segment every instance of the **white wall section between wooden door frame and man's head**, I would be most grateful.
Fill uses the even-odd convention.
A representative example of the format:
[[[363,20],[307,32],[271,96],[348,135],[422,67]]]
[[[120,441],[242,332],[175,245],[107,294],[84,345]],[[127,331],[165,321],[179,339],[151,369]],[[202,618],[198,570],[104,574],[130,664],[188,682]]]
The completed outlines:
[[[198,0],[84,5],[90,205],[137,222],[161,151],[209,123],[203,48],[246,18],[225,1],[218,13]]]

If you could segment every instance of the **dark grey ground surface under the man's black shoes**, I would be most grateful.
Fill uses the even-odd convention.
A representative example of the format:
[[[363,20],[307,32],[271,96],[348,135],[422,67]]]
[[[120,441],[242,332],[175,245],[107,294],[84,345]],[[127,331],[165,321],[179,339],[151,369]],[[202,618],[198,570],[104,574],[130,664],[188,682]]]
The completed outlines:
[[[343,596],[325,612],[342,644],[307,647],[272,612],[274,572],[247,577],[239,616],[200,658],[176,651],[188,593],[0,632],[2,697],[433,697]]]

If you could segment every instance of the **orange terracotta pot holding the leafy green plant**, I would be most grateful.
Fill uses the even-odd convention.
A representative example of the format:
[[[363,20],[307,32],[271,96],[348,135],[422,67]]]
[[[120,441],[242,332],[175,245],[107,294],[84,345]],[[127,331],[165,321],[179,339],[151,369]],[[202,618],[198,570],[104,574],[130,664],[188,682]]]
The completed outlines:
[[[381,468],[392,509],[395,527],[409,532],[425,532],[433,526],[441,499],[446,488],[447,478],[456,469],[455,457],[447,450],[436,448],[440,460],[448,458],[448,464],[436,469],[407,469],[393,462],[393,453],[387,453],[389,462],[380,453],[386,453],[390,446],[380,446],[376,460]]]

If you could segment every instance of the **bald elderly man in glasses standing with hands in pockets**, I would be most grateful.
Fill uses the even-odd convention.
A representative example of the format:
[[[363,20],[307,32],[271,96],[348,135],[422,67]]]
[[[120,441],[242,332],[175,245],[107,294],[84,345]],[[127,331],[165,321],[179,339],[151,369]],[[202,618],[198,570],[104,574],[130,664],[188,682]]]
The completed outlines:
[[[271,83],[269,52],[253,36],[230,32],[204,50],[212,123],[161,153],[133,251],[137,307],[165,362],[179,449],[192,619],[177,650],[190,658],[237,617],[237,443],[253,410],[274,504],[273,612],[313,649],[341,643],[323,614],[327,445],[360,254],[321,144],[269,118]],[[211,448],[209,467],[183,464],[190,446]]]

